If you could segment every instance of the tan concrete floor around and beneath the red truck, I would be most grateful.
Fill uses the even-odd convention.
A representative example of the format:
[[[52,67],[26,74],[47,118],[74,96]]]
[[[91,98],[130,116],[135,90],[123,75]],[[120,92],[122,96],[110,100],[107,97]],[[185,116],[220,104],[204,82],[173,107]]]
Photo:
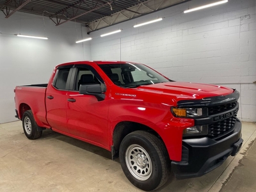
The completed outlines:
[[[255,138],[256,125],[243,122],[244,143],[236,157],[203,177],[177,180],[172,175],[157,191],[220,191]],[[141,190],[126,179],[110,152],[50,130],[28,140],[18,121],[0,124],[0,191]]]

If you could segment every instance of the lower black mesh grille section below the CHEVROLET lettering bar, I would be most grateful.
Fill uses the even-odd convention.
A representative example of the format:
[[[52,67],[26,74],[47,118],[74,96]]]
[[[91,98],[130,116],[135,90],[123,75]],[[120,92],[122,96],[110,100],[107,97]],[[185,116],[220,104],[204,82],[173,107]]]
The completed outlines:
[[[216,122],[214,124],[209,124],[208,135],[212,138],[219,136],[225,132],[231,131],[236,123],[236,115],[222,120],[220,122]]]

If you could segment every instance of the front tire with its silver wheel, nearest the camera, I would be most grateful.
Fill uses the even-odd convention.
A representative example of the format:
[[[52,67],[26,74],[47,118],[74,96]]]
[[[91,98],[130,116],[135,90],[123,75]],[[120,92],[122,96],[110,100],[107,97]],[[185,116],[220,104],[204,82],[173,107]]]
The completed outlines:
[[[162,140],[149,132],[134,131],[125,136],[119,158],[127,179],[144,191],[160,188],[170,175],[166,147]]]

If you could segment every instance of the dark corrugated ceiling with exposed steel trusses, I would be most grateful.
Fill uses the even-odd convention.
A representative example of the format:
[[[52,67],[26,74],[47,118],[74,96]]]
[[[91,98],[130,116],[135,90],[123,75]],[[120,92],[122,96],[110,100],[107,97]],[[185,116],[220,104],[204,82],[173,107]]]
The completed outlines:
[[[49,17],[56,26],[75,21],[90,33],[186,1],[190,0],[0,0],[0,10],[7,19],[24,12]]]

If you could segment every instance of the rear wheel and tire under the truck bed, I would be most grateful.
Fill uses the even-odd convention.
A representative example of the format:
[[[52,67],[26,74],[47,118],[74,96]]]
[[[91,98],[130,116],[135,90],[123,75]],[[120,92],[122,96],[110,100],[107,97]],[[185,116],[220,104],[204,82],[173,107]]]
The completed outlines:
[[[23,131],[29,140],[35,140],[42,136],[42,131],[37,130],[37,125],[31,110],[26,111],[22,116]]]

